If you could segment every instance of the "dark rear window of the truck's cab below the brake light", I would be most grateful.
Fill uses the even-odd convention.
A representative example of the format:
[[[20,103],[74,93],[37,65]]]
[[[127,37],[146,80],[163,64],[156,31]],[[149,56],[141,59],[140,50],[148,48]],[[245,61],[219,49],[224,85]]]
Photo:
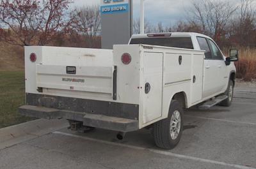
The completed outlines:
[[[130,45],[133,44],[194,49],[191,37],[132,38]]]

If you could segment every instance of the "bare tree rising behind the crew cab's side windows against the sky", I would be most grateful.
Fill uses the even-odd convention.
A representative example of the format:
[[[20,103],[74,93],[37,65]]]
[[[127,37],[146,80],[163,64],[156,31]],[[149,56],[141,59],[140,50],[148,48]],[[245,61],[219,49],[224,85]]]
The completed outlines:
[[[202,26],[204,34],[220,42],[237,7],[228,1],[202,0],[193,2],[189,10],[189,22]]]

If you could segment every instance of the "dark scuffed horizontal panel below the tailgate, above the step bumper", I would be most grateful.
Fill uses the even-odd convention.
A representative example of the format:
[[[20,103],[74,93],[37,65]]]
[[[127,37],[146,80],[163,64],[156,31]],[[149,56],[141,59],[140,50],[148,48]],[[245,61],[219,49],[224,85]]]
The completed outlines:
[[[26,93],[26,105],[138,120],[139,105]]]

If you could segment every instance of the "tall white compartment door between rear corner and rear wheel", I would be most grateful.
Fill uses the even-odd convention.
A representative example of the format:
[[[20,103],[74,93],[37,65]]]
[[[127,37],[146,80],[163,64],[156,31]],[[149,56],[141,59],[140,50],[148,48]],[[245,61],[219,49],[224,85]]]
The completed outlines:
[[[154,121],[162,115],[163,54],[144,53],[143,57],[143,124]],[[145,92],[146,84],[150,91]]]

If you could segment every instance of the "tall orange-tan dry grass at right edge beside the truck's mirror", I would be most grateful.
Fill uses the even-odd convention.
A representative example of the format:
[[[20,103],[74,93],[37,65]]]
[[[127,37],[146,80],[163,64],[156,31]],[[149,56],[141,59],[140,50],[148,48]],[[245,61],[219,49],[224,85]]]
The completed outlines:
[[[256,48],[239,48],[239,61],[235,63],[237,78],[252,81],[256,78]]]

